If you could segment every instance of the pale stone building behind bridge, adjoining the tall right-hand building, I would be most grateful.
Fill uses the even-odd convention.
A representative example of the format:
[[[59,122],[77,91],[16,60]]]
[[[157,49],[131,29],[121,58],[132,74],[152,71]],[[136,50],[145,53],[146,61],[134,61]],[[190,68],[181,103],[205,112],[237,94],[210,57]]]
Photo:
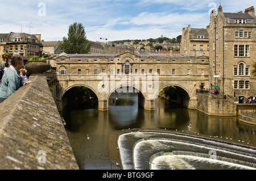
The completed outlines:
[[[204,53],[209,56],[209,33],[204,28],[183,28],[180,41],[180,53],[196,55]]]

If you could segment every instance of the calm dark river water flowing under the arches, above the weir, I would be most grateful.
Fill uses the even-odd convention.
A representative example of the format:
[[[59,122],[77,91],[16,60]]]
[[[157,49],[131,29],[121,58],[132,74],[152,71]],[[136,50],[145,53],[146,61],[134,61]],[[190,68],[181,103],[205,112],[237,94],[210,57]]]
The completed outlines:
[[[137,93],[112,94],[109,111],[98,111],[97,102],[91,99],[72,104],[61,113],[82,170],[110,170],[109,138],[113,132],[129,128],[188,131],[191,123],[191,132],[256,146],[256,126],[242,123],[237,117],[208,116],[161,98],[155,100],[155,111],[144,111],[138,107]]]

